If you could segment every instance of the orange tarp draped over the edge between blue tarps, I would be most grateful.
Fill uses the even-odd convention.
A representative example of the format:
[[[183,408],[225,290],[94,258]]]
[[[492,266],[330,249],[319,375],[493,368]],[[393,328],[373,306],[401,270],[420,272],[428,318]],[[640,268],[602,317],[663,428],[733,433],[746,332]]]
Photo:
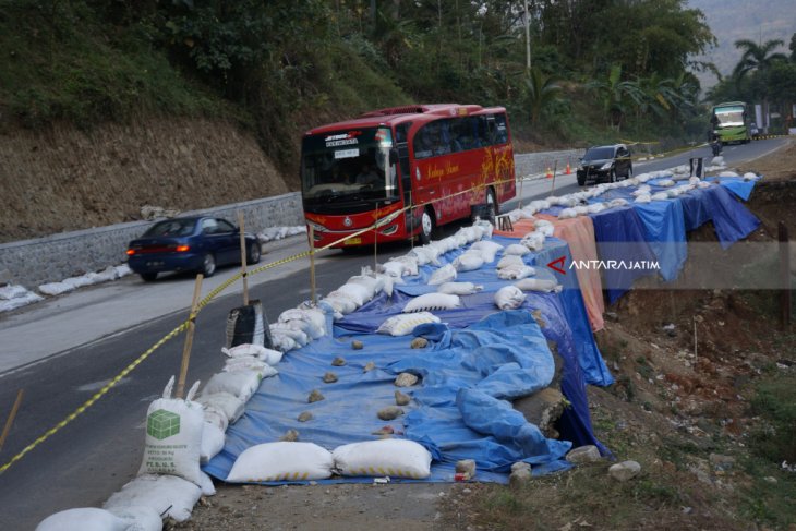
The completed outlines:
[[[558,219],[546,214],[538,214],[539,219],[545,219],[553,224],[553,236],[569,244],[569,252],[576,261],[596,261],[596,243],[594,241],[594,224],[589,216],[578,216],[571,219]],[[497,236],[508,238],[522,238],[533,230],[533,221],[520,219],[514,225],[512,231],[495,230]],[[569,271],[567,271],[569,274]],[[586,311],[589,314],[589,322],[593,331],[602,330],[605,326],[603,312],[603,283],[600,271],[596,269],[576,269],[578,286],[583,294]]]

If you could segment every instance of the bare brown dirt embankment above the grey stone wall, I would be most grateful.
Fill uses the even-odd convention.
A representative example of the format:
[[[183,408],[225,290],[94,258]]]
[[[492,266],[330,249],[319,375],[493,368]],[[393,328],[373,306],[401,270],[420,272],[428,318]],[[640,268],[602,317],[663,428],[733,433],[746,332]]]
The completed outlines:
[[[253,135],[198,119],[2,131],[0,189],[0,242],[290,191]]]

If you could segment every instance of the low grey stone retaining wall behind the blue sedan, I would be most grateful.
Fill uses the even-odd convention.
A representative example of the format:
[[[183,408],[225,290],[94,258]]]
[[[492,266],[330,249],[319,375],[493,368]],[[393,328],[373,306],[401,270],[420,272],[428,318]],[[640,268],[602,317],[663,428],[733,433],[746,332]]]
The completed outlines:
[[[238,210],[243,212],[246,232],[304,225],[298,192],[184,214],[207,214],[238,225]],[[124,262],[130,240],[138,238],[150,225],[152,221],[132,221],[2,243],[0,281],[35,289],[46,282],[119,265]]]

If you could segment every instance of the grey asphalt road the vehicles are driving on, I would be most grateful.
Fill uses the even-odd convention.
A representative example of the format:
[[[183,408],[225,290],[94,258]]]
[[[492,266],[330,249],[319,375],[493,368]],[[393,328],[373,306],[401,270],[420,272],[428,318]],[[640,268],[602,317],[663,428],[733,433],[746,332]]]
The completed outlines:
[[[733,165],[757,158],[783,140],[726,146],[724,157]],[[708,147],[666,159],[635,165],[635,173],[653,171],[701,156]],[[562,195],[579,190],[575,176],[523,183],[521,201]],[[504,212],[520,200],[502,206]],[[447,227],[446,233],[457,226]],[[266,245],[263,263],[305,249],[304,237]],[[379,246],[379,261],[405,254],[409,244]],[[354,253],[333,251],[318,258],[317,287],[328,292],[361,266],[372,265],[372,250]],[[302,258],[251,277],[251,298],[264,302],[275,318],[310,298],[309,261]],[[234,269],[220,270],[208,279],[207,293]],[[240,286],[240,285],[238,285]],[[22,408],[0,451],[0,466],[56,426],[88,400],[130,362],[182,323],[188,314],[193,280],[167,277],[145,283],[135,276],[81,290],[0,317],[0,422],[24,389]],[[196,321],[196,336],[189,371],[189,385],[220,371],[225,325],[229,311],[240,305],[240,288],[208,304]],[[69,422],[0,474],[0,530],[27,530],[48,515],[74,507],[98,507],[112,492],[134,478],[141,463],[144,422],[149,402],[166,382],[179,372],[184,336],[164,345],[85,413]]]

